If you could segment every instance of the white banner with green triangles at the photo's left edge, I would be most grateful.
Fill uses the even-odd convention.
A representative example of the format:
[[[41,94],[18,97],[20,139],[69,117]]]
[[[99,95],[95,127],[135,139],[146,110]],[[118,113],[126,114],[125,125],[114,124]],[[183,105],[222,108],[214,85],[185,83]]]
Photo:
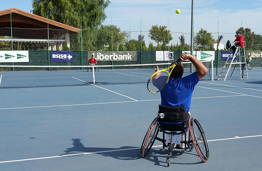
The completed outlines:
[[[0,51],[0,62],[29,62],[28,50]]]

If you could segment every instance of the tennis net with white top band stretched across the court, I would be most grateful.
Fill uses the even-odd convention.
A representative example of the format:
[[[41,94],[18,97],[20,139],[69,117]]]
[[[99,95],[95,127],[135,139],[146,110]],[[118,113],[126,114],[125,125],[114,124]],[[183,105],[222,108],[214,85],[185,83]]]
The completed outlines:
[[[201,61],[212,80],[212,61]],[[184,76],[195,71],[191,62],[182,62]],[[0,65],[0,88],[80,86],[87,84],[144,84],[159,69],[170,63],[106,66],[12,66]]]

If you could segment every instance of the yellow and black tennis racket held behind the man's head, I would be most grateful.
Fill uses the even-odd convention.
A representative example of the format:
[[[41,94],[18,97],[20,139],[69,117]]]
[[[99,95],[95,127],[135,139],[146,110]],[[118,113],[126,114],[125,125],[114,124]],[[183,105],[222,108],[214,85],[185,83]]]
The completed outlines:
[[[148,80],[148,91],[150,93],[157,93],[161,91],[165,87],[165,85],[167,85],[171,72],[180,61],[181,59],[179,58],[173,65],[169,66],[168,68],[155,72]],[[171,70],[168,73],[167,70],[169,70],[170,68]]]

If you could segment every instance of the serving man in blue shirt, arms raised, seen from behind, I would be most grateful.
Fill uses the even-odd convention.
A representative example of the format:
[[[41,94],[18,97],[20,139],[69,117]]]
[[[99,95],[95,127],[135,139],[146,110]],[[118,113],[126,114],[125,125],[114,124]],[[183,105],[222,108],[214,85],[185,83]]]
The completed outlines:
[[[206,67],[191,54],[183,53],[180,59],[190,60],[196,67],[196,72],[182,77],[184,68],[181,63],[175,66],[171,72],[167,85],[160,91],[161,105],[185,106],[185,111],[190,110],[191,97],[196,84],[206,75]],[[171,63],[171,65],[173,62]],[[158,66],[155,71],[159,71]]]

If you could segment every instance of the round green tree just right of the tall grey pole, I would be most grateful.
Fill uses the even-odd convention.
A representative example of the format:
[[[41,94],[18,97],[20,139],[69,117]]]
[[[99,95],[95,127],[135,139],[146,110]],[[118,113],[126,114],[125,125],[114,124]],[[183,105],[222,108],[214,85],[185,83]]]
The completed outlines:
[[[208,33],[206,30],[203,30],[203,28],[201,28],[196,33],[194,41],[195,41],[195,45],[201,44],[203,46],[204,45],[211,46],[212,42],[215,42],[215,40],[213,39],[213,36],[211,35],[211,33]]]

